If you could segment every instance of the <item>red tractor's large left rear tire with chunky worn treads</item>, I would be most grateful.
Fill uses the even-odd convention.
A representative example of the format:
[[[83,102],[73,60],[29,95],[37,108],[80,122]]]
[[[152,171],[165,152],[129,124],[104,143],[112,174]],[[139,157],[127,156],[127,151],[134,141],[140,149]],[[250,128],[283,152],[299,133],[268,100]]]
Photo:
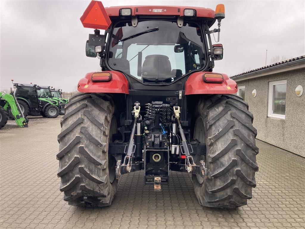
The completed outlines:
[[[78,93],[65,109],[57,154],[63,199],[74,206],[108,206],[117,191],[116,161],[108,156],[109,132],[117,129],[114,105],[102,94]]]

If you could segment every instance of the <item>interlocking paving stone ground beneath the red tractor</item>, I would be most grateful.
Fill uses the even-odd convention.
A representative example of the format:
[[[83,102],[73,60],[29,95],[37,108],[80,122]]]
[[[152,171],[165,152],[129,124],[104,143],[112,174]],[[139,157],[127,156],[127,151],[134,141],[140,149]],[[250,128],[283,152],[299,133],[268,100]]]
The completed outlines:
[[[257,140],[257,187],[247,206],[205,208],[190,175],[172,172],[161,192],[143,173],[122,176],[113,204],[63,201],[56,176],[60,117],[0,130],[0,228],[304,228],[305,159]]]

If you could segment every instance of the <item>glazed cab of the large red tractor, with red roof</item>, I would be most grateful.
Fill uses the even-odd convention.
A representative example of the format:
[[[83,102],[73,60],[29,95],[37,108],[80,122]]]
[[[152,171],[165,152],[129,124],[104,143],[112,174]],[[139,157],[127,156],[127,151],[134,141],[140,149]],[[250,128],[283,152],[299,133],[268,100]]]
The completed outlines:
[[[179,89],[180,85],[183,89],[182,82],[188,76],[210,72],[214,60],[222,59],[222,45],[217,44],[218,49],[214,49],[210,37],[220,28],[209,28],[215,20],[220,27],[224,13],[178,6],[115,6],[105,8],[105,12],[104,22],[90,25],[86,11],[81,17],[84,27],[106,29],[104,35],[98,29],[89,35],[86,55],[98,55],[103,59],[102,70],[120,71],[131,84],[158,86],[176,82],[172,87]],[[98,22],[100,25],[96,25]]]

